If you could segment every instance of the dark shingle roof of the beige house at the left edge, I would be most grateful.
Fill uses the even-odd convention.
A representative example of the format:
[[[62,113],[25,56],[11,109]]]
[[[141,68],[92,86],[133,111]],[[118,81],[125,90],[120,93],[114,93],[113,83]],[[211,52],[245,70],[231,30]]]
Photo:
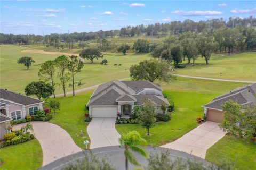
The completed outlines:
[[[37,100],[28,96],[20,95],[12,91],[0,89],[0,98],[3,98],[5,100],[10,100],[15,103],[19,103],[22,105],[31,105],[36,103],[42,103],[43,101]]]

